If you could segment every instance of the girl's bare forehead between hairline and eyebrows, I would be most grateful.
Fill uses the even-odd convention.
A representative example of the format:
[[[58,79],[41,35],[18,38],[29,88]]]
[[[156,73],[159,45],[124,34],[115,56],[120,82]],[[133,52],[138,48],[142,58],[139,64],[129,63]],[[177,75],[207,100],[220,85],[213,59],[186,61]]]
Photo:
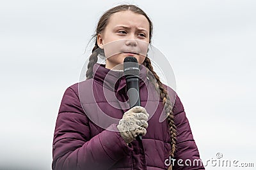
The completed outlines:
[[[147,18],[144,15],[132,11],[119,11],[113,13],[109,18],[107,27],[115,27],[116,25],[140,27],[149,31],[149,22]]]

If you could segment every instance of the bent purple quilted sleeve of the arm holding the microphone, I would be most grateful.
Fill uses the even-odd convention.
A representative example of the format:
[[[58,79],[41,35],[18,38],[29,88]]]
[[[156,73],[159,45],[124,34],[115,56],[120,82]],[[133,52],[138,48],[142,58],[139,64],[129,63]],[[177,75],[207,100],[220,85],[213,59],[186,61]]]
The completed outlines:
[[[61,101],[52,146],[52,169],[108,169],[131,152],[116,125],[90,138],[88,118],[69,87]],[[112,131],[109,131],[112,130]]]

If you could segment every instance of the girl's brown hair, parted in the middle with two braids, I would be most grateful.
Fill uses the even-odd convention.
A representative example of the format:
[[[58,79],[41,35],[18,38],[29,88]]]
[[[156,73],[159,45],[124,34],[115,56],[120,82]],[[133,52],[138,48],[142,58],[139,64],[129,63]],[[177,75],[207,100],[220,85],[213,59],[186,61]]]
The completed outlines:
[[[147,18],[147,20],[149,22],[149,27],[150,27],[149,28],[150,29],[149,43],[151,42],[152,34],[153,34],[152,22],[151,22],[150,18],[147,16],[147,14],[143,10],[138,8],[138,6],[134,6],[131,4],[122,4],[122,5],[115,6],[114,8],[109,9],[102,15],[102,17],[100,17],[100,20],[97,25],[97,29],[95,31],[95,34],[93,35],[93,38],[95,39],[95,46],[93,47],[92,55],[90,56],[90,59],[89,59],[88,69],[86,71],[86,79],[92,78],[92,69],[93,69],[94,64],[97,62],[98,55],[100,53],[99,50],[96,50],[97,48],[100,49],[99,46],[97,45],[97,35],[99,33],[101,33],[102,31],[104,31],[104,29],[106,28],[106,25],[108,25],[109,18],[111,17],[111,15],[113,15],[113,13],[116,13],[118,11],[127,11],[127,10],[132,11],[134,13],[138,13]],[[169,129],[170,129],[170,136],[171,136],[171,147],[172,148],[170,151],[170,156],[173,157],[174,152],[175,152],[175,143],[176,143],[175,142],[176,141],[176,127],[174,124],[172,105],[170,103],[170,99],[167,94],[167,90],[163,87],[163,84],[159,80],[159,76],[157,76],[156,72],[154,71],[151,61],[148,57],[145,58],[145,60],[143,62],[143,66],[147,67],[148,70],[154,75],[154,77],[151,77],[151,78],[149,76],[149,80],[151,82],[154,82],[154,80],[156,80],[156,83],[154,83],[154,86],[157,90],[159,90],[160,97],[161,97],[161,99],[163,99],[164,109],[166,111],[166,114],[168,115],[168,124],[169,124]]]

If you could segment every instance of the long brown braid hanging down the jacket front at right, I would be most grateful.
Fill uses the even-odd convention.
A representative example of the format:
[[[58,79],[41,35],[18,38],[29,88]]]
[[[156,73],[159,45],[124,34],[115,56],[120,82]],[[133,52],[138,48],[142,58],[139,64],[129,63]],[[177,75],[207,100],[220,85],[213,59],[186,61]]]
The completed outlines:
[[[170,136],[171,136],[171,152],[170,156],[173,158],[174,152],[175,152],[175,144],[176,144],[176,126],[174,124],[174,116],[172,112],[172,107],[171,107],[171,102],[170,102],[170,97],[167,94],[167,90],[164,89],[163,83],[160,81],[159,76],[157,76],[156,72],[154,71],[151,61],[148,57],[145,58],[143,62],[143,66],[147,67],[149,71],[153,74],[148,74],[149,80],[154,84],[156,90],[160,90],[160,97],[163,99],[163,104],[164,104],[164,110],[166,111],[166,115],[168,115],[168,124],[169,124],[169,130],[170,130]],[[154,82],[154,78],[156,78],[156,81]]]

